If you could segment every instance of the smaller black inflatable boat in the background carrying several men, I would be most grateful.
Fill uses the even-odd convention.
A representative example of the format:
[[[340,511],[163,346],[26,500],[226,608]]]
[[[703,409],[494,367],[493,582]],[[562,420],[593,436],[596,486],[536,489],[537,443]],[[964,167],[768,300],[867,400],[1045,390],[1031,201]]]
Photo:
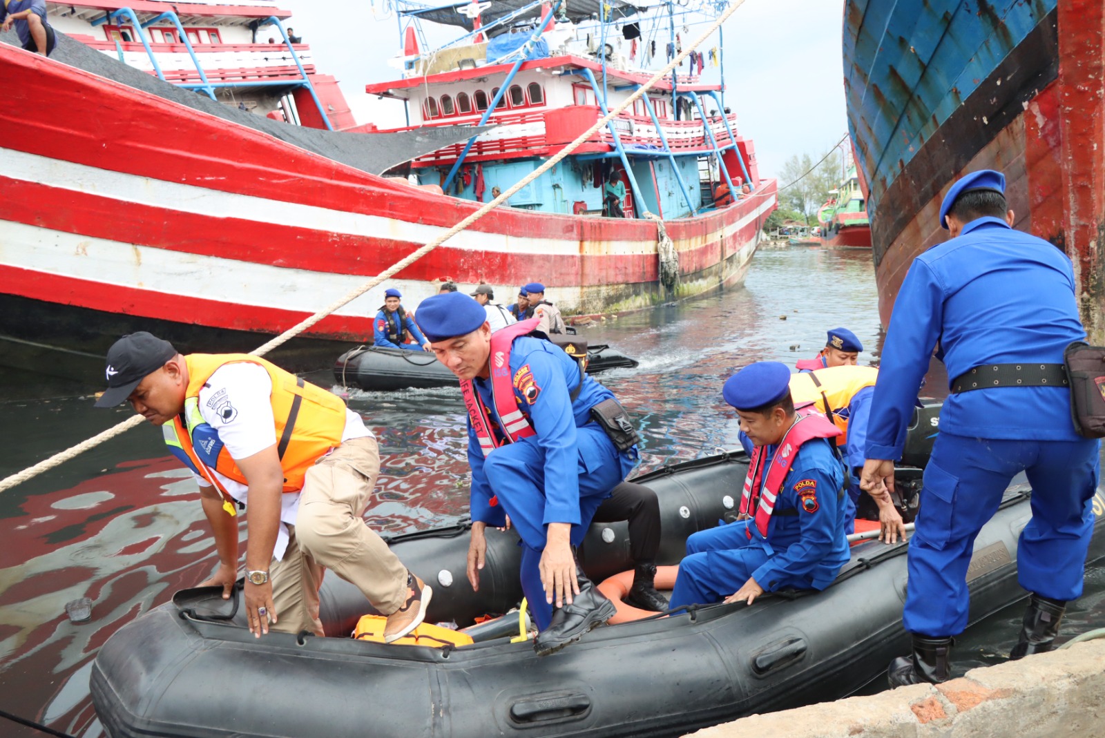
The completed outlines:
[[[591,375],[636,363],[606,344],[587,349],[587,372]],[[456,377],[433,354],[379,346],[358,346],[339,356],[334,362],[334,379],[343,387],[372,391],[456,387]]]

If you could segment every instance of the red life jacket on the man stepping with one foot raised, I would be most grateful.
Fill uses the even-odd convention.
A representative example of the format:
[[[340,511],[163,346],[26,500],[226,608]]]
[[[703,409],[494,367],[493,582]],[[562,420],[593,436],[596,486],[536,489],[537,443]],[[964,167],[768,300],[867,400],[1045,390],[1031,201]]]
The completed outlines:
[[[511,377],[511,347],[514,339],[533,333],[540,318],[529,318],[512,326],[499,328],[491,335],[491,396],[495,404],[495,415],[506,440],[499,441],[491,430],[491,414],[480,399],[480,393],[471,381],[461,382],[464,394],[464,408],[469,411],[469,420],[480,441],[480,450],[484,456],[503,443],[514,443],[519,439],[536,435],[529,421],[518,409],[514,398],[514,380]]]

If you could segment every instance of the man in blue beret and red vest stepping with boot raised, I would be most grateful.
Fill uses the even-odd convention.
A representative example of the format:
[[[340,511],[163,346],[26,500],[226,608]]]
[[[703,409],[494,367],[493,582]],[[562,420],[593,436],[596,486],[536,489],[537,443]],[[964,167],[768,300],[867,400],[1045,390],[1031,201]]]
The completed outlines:
[[[615,445],[596,414],[617,414],[618,401],[559,347],[528,336],[536,318],[493,335],[475,301],[450,294],[423,301],[418,321],[461,380],[469,413],[469,580],[478,590],[484,529],[504,526],[508,515],[522,537],[522,589],[540,631],[534,645],[552,653],[614,614],[572,547],[636,463],[635,433]]]

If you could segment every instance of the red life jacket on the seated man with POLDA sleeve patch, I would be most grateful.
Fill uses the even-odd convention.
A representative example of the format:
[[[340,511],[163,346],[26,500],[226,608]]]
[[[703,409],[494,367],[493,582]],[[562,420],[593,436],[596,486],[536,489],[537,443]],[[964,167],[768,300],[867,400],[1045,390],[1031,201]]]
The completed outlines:
[[[767,482],[761,484],[764,475],[764,458],[767,456],[767,446],[756,446],[753,449],[751,462],[748,464],[748,474],[745,475],[745,488],[740,493],[740,514],[756,516],[756,529],[764,538],[767,538],[767,524],[771,520],[771,513],[775,510],[775,500],[782,492],[782,484],[790,474],[790,467],[798,456],[798,450],[803,443],[812,439],[832,439],[840,435],[840,429],[832,424],[828,418],[814,410],[798,411],[798,420],[790,426],[779,447],[771,460],[771,468],[767,473]],[[751,540],[751,526],[746,531]]]

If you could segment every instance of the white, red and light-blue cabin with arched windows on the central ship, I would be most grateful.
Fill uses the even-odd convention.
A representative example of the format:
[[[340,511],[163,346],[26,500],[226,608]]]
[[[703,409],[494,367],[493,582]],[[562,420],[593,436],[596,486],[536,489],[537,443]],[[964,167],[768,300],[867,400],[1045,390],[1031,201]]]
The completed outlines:
[[[607,22],[598,20],[600,12]],[[550,14],[551,28],[543,31]],[[409,126],[397,130],[495,126],[411,165],[420,183],[476,201],[514,184],[623,103],[691,38],[675,25],[682,20],[670,22],[666,3],[650,14],[622,0],[465,1],[410,8],[400,18],[407,22],[397,56],[403,76],[366,91],[404,102]],[[467,33],[421,51],[423,22]],[[707,65],[720,71],[720,45],[701,52],[509,204],[627,218],[648,210],[673,219],[726,207],[734,194],[740,199],[743,190],[755,189],[751,141],[738,135],[723,86],[703,81]],[[619,183],[625,192],[615,204]]]

